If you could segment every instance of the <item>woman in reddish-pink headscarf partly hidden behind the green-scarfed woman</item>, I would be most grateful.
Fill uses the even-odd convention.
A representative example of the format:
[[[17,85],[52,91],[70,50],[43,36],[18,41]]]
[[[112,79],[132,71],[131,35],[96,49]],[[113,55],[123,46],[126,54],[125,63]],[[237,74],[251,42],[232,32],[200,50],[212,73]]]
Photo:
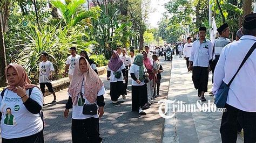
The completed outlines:
[[[147,100],[148,103],[153,103],[153,94],[154,94],[154,73],[153,73],[153,60],[147,58],[147,52],[143,51],[143,63],[149,73],[150,82],[147,83]]]

